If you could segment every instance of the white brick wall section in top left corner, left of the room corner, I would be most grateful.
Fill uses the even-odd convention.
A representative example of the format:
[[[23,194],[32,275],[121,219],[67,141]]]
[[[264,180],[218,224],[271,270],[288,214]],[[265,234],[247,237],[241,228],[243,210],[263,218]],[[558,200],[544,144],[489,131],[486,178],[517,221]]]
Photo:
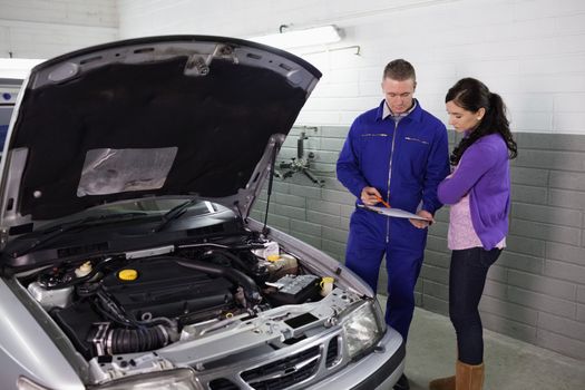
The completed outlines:
[[[0,0],[0,58],[51,58],[117,38],[115,0]]]

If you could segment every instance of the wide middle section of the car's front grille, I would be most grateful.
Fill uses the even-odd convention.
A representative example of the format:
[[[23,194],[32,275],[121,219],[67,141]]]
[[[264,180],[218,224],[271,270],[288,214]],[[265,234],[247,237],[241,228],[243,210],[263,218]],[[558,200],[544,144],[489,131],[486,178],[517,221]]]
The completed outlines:
[[[279,390],[312,377],[319,368],[319,347],[304,350],[292,357],[270,362],[242,372],[242,379],[256,390]]]

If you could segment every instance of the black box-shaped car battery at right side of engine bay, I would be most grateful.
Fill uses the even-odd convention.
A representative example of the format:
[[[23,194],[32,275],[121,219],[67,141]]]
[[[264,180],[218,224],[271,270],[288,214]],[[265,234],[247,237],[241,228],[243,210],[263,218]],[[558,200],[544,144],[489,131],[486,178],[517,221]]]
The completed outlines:
[[[266,283],[277,291],[270,294],[273,304],[299,304],[319,299],[321,277],[315,275],[286,275],[274,283]]]

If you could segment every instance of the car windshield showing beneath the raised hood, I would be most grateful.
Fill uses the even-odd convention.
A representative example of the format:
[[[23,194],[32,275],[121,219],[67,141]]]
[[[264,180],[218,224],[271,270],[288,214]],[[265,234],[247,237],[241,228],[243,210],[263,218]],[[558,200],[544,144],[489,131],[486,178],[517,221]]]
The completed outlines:
[[[197,197],[148,198],[88,208],[11,232],[0,263],[9,269],[52,264],[69,256],[168,245],[191,237],[237,231],[241,221],[227,207]],[[27,226],[22,226],[25,228]]]

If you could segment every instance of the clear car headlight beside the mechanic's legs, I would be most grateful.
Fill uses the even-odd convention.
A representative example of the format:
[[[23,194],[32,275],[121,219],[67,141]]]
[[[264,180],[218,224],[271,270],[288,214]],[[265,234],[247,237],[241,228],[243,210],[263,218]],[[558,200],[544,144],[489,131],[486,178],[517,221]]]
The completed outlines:
[[[383,329],[370,303],[353,311],[343,321],[345,345],[351,358],[376,344],[383,334]]]

